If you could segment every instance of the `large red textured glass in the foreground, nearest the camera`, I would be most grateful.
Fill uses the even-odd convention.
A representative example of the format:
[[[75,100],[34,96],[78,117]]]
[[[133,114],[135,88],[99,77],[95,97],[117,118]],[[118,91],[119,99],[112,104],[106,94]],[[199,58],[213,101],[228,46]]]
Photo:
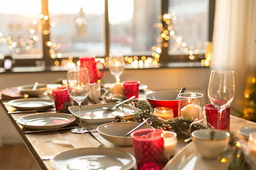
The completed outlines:
[[[142,129],[132,132],[133,149],[138,170],[164,168],[163,130]]]

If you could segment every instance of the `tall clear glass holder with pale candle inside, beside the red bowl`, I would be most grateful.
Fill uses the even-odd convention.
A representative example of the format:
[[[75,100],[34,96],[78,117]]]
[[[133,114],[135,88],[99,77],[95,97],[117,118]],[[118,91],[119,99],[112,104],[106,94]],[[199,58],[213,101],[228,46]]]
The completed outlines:
[[[194,92],[178,94],[178,115],[193,120],[202,120],[203,94]]]

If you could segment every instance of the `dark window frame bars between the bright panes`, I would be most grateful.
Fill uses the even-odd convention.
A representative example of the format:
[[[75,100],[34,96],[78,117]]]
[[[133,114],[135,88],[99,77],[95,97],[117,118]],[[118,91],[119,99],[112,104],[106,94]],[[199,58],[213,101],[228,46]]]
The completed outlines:
[[[161,0],[161,15],[164,13],[168,13],[169,8],[169,0]],[[49,16],[48,11],[48,0],[41,0],[41,13],[43,15]],[[214,13],[215,13],[215,0],[208,0],[208,41],[212,42],[213,40],[213,21],[214,21]],[[42,22],[42,30],[50,30],[50,18],[48,20],[41,19]],[[166,28],[166,23],[161,21],[164,28]],[[43,32],[43,31],[42,31]],[[55,60],[61,62],[66,58],[58,58],[52,59],[50,57],[50,47],[46,45],[46,42],[50,41],[50,33],[42,35],[42,50],[43,50],[43,57],[41,59],[17,59],[15,60],[16,67],[27,67],[27,66],[36,66],[35,62],[38,60],[43,60],[46,62],[46,68],[53,67]],[[161,44],[161,54],[159,64],[163,64],[166,62],[201,62],[202,59],[205,59],[205,54],[195,55],[196,60],[189,60],[188,55],[169,55],[168,47],[164,47],[164,42],[167,40],[163,40]],[[104,56],[97,56],[97,57],[107,57],[110,55],[110,23],[108,17],[108,0],[105,0],[105,55]],[[140,59],[143,55],[137,55]],[[147,56],[147,55],[146,55]],[[77,62],[79,60],[79,56],[75,56],[73,58],[73,62]]]

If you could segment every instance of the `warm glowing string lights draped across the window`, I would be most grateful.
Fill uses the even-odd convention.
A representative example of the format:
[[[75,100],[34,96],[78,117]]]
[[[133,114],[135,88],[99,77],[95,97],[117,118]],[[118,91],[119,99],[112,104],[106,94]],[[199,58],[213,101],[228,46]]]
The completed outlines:
[[[49,16],[46,14],[40,13],[39,18],[41,18],[41,22],[33,21],[33,25],[34,26],[38,25],[38,28],[41,28],[41,25],[43,25],[45,23],[45,21],[47,21],[49,19]],[[149,67],[150,64],[153,64],[154,66],[156,66],[159,62],[159,58],[160,58],[160,55],[162,52],[161,45],[163,45],[163,47],[166,47],[166,48],[169,47],[168,41],[171,38],[173,40],[175,40],[174,46],[181,48],[181,51],[184,52],[186,55],[188,55],[188,58],[190,60],[196,59],[195,55],[197,55],[199,53],[199,50],[194,49],[193,45],[188,46],[188,44],[186,42],[183,42],[183,38],[176,33],[176,30],[174,30],[175,24],[177,23],[176,13],[174,13],[174,12],[173,13],[165,13],[163,16],[160,16],[159,18],[162,19],[166,23],[166,28],[164,28],[162,23],[154,24],[155,28],[159,28],[159,30],[161,31],[161,34],[159,35],[159,38],[156,38],[156,42],[158,42],[158,44],[151,47],[151,50],[153,51],[151,53],[151,57],[142,56],[140,60],[139,60],[139,57],[137,57],[137,56],[124,57],[124,61],[131,64],[132,67],[147,68],[147,67]],[[55,23],[51,22],[50,26],[55,27]],[[25,50],[27,50],[27,51],[32,50],[33,43],[35,41],[36,42],[39,41],[40,38],[36,35],[36,30],[34,28],[29,28],[28,31],[30,33],[29,37],[31,39],[25,41],[25,40],[23,40],[23,38],[20,38],[18,40],[18,42],[12,40],[11,36],[4,38],[3,33],[0,32],[0,42],[8,43],[9,49],[13,49],[14,47],[16,47],[15,51],[17,53],[21,52],[20,47],[25,47]],[[41,32],[43,33],[43,35],[48,35],[50,33],[50,30],[41,30]],[[162,43],[164,40],[166,40],[167,42]],[[55,54],[55,52],[57,52],[60,49],[60,47],[61,47],[60,44],[56,44],[55,42],[47,41],[46,45],[48,47],[50,47],[49,53],[50,53],[50,57],[52,59],[62,57],[61,52],[58,52],[57,54]],[[210,65],[210,60],[211,60],[210,48],[211,48],[211,46],[206,47],[206,59],[201,60],[202,66],[208,67]],[[105,59],[99,58],[97,60],[100,60],[100,62],[102,62],[105,65],[107,63],[107,57]],[[63,63],[65,63],[65,62],[63,62]],[[68,59],[67,64],[68,64],[68,67],[73,67],[73,64],[74,64],[73,57],[71,59]],[[60,63],[58,61],[55,61],[55,66],[59,66],[59,65],[60,65]]]

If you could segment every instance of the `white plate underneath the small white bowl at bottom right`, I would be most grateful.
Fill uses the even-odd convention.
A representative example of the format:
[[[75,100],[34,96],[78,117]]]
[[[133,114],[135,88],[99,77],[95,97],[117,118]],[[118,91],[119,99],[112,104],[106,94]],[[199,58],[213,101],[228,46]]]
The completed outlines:
[[[203,159],[191,142],[169,160],[163,170],[220,170],[228,169],[228,165],[218,159]]]

